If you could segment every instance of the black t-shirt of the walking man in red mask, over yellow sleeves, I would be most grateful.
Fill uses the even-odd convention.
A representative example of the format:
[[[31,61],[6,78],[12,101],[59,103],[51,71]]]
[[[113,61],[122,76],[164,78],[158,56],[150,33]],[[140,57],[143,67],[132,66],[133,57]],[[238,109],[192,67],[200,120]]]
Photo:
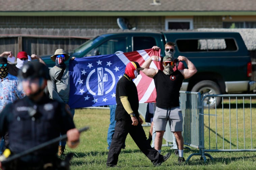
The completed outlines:
[[[131,116],[125,111],[120,96],[128,96],[128,101],[131,105],[133,113],[139,117],[139,98],[137,87],[132,80],[128,80],[123,76],[116,84],[116,113],[115,120],[131,119]]]

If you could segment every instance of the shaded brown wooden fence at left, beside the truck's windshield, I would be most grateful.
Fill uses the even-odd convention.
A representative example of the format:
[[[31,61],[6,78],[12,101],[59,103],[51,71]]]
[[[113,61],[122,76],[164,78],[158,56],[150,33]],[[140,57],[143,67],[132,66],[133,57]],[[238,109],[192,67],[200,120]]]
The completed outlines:
[[[12,51],[17,56],[19,51],[26,51],[28,55],[54,54],[58,48],[70,52],[89,40],[82,37],[66,36],[33,36],[33,35],[0,35],[0,53]]]

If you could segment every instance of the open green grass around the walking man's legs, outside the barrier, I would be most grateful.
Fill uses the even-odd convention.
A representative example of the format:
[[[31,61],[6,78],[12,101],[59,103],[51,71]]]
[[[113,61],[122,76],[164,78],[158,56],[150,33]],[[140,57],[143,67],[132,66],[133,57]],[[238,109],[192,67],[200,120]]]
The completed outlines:
[[[74,117],[77,128],[89,126],[90,129],[81,134],[80,145],[75,149],[67,147],[67,153],[73,152],[71,161],[72,170],[106,169],[108,156],[107,131],[109,126],[109,109],[77,109]],[[148,135],[149,127],[144,127]],[[215,138],[214,138],[215,139]],[[165,141],[163,141],[165,143]],[[137,145],[128,135],[126,148],[121,151],[117,168],[113,169],[255,169],[255,152],[222,152],[209,153],[214,161],[207,158],[206,163],[200,156],[193,156],[190,161],[182,166],[178,165],[177,157],[170,147],[162,147],[162,154],[171,152],[171,157],[159,167],[154,167],[150,160],[138,149]],[[184,158],[188,158],[198,150],[184,150]]]

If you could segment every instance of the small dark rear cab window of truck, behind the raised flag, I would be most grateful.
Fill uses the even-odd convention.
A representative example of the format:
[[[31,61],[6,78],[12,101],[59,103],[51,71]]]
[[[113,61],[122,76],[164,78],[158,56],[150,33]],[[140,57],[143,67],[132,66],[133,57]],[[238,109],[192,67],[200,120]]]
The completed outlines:
[[[133,51],[152,48],[157,45],[153,37],[133,37]]]

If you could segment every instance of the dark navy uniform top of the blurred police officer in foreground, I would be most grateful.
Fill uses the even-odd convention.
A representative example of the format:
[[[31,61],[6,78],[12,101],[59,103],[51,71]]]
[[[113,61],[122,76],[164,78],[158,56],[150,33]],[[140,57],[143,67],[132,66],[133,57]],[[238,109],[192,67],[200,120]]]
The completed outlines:
[[[9,135],[9,149],[22,153],[75,128],[65,103],[49,99],[46,95],[35,103],[25,96],[6,105],[0,114],[0,136]],[[50,162],[58,150],[58,143],[49,145],[21,158],[23,162]]]

